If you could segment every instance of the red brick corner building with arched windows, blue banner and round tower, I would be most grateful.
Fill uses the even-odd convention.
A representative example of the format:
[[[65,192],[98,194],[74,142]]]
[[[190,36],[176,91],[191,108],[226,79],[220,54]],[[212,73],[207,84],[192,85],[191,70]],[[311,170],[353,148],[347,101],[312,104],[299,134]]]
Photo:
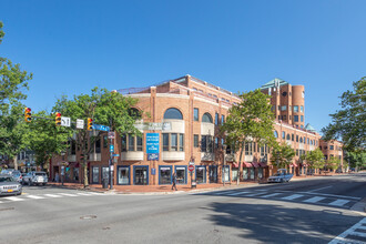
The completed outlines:
[[[273,83],[277,84],[276,81]],[[264,90],[271,93],[274,90],[270,87],[267,83]],[[291,171],[301,175],[306,173],[306,165],[301,163],[299,156],[318,146],[321,136],[314,131],[305,130],[304,120],[295,121],[293,118],[304,115],[304,87],[292,87],[286,82],[283,87],[281,96],[273,95],[272,102],[276,105],[276,118],[286,116],[286,120],[275,122],[274,133],[278,141],[285,141],[296,151]],[[288,95],[283,95],[285,91]],[[145,115],[139,121],[142,136],[115,136],[114,153],[120,156],[113,161],[114,184],[171,184],[173,172],[177,174],[179,184],[191,184],[191,180],[199,184],[236,181],[237,154],[228,146],[224,148],[224,141],[218,133],[228,109],[241,101],[236,94],[191,75],[154,87],[119,92],[139,99],[134,109],[144,111],[149,116]],[[273,93],[278,92],[276,90]],[[277,110],[283,104],[303,109],[286,113],[282,108]],[[65,180],[81,181],[83,173],[79,159],[80,154],[71,143],[63,160],[52,160],[51,176],[54,177],[55,172],[60,172],[60,165],[67,161]],[[91,184],[101,183],[102,177],[108,177],[109,159],[108,139],[104,134],[95,142],[93,153],[89,157],[88,174]],[[194,163],[192,175],[189,172],[190,162]],[[271,175],[276,169],[268,162],[266,146],[258,146],[255,142],[246,144],[244,180],[254,181]]]

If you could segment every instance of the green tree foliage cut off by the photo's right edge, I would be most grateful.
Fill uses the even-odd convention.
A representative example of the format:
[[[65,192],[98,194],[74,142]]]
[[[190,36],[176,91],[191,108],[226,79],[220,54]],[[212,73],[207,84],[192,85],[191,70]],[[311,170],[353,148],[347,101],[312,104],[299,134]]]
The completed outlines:
[[[349,152],[366,145],[366,78],[354,82],[353,88],[342,94],[342,110],[331,114],[332,123],[322,129],[324,140],[342,138]]]

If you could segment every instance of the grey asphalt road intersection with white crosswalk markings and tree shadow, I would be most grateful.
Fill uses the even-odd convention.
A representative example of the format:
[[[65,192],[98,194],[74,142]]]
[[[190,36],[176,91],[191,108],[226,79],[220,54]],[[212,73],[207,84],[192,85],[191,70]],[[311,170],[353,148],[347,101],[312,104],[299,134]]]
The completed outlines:
[[[26,186],[0,197],[0,243],[366,243],[365,197],[366,174],[166,195]]]

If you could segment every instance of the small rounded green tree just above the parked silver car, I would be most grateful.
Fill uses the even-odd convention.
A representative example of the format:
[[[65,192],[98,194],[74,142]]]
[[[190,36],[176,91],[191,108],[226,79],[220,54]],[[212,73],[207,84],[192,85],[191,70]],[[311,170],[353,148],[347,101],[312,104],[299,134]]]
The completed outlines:
[[[293,162],[295,156],[295,151],[291,148],[291,145],[283,142],[282,144],[277,144],[272,150],[271,163],[275,164],[277,169],[286,169]]]

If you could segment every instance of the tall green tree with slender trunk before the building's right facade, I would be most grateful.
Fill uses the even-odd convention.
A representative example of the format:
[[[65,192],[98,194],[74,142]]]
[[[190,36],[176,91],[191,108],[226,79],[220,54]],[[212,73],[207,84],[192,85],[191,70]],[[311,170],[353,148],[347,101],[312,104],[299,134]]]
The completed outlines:
[[[221,130],[226,135],[226,144],[240,150],[237,184],[243,172],[242,159],[245,143],[256,141],[260,145],[275,142],[273,134],[274,114],[268,103],[270,96],[255,91],[240,94],[242,102],[228,110],[226,122]]]

